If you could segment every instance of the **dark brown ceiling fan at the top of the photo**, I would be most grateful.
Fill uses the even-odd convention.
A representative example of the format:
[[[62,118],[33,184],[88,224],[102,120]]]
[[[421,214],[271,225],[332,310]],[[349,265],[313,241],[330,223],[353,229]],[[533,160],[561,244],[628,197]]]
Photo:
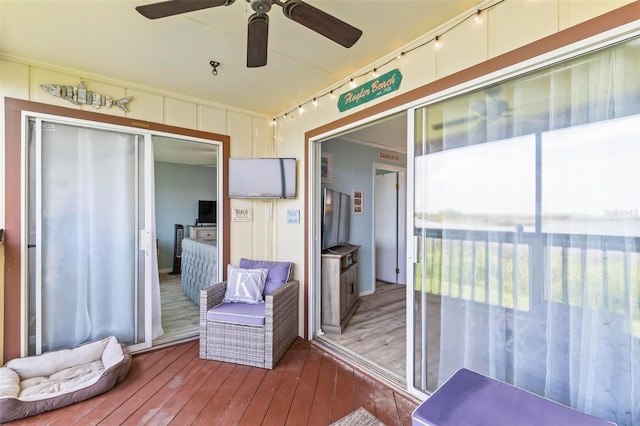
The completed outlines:
[[[235,0],[168,0],[136,7],[146,18],[157,19],[217,6],[229,6]],[[272,4],[282,7],[284,16],[344,46],[351,47],[362,31],[302,0],[246,0],[255,11],[249,17],[247,34],[247,67],[267,64],[267,39]]]

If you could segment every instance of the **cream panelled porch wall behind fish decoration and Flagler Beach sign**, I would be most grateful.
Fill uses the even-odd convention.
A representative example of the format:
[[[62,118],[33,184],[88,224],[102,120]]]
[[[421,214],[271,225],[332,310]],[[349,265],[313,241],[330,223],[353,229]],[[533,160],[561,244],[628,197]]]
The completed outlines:
[[[486,4],[491,3],[493,2]],[[448,31],[441,37],[443,43],[441,49],[435,50],[433,44],[429,43],[381,67],[380,73],[398,68],[403,75],[401,87],[394,94],[345,113],[338,111],[337,99],[331,99],[329,96],[319,97],[317,108],[309,106],[302,116],[296,113],[293,119],[278,120],[275,140],[272,140],[272,128],[268,124],[269,117],[259,113],[185,98],[166,93],[158,88],[136,87],[106,77],[86,75],[81,70],[60,70],[53,67],[47,69],[6,59],[0,60],[0,99],[3,101],[0,104],[0,116],[4,119],[5,96],[93,110],[90,106],[74,107],[64,100],[47,95],[39,88],[40,84],[46,83],[76,85],[82,79],[91,90],[109,94],[112,98],[133,96],[135,108],[127,114],[130,118],[229,135],[232,157],[298,158],[299,196],[294,200],[275,201],[273,219],[270,220],[267,217],[267,203],[251,200],[231,201],[231,207],[249,207],[254,210],[253,222],[231,223],[231,261],[237,262],[241,256],[288,259],[296,264],[295,277],[306,284],[303,279],[306,275],[303,270],[304,225],[302,221],[300,224],[286,223],[288,209],[300,210],[301,218],[304,217],[305,132],[629,3],[633,1],[505,0],[484,14],[482,24],[476,25],[473,20],[468,20]],[[424,40],[441,34],[444,29],[450,28],[452,24],[457,24],[459,21],[460,19],[454,19],[441,28],[434,29],[425,34]],[[417,44],[419,42],[412,43],[412,45]],[[388,57],[393,57],[391,54],[396,53],[389,52]],[[372,64],[373,66],[375,64]],[[354,75],[358,74],[360,72]],[[368,76],[363,76],[358,78],[356,83],[362,84],[368,79]],[[336,85],[339,83],[336,82]],[[343,91],[346,90],[348,88]],[[291,109],[296,105],[292,105]],[[124,114],[115,108],[99,111],[104,114]],[[0,174],[3,176],[4,170],[4,132],[0,132]],[[4,228],[4,211],[4,185],[0,185],[0,227],[2,228]],[[1,297],[0,294],[0,301]],[[302,300],[301,295],[301,304]]]

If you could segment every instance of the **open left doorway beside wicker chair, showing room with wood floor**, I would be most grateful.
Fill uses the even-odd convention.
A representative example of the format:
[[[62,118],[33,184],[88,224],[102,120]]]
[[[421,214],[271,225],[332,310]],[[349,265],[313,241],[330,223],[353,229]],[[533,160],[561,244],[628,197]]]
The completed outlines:
[[[154,136],[156,247],[160,277],[162,328],[164,334],[153,340],[153,347],[191,340],[199,336],[200,309],[182,288],[182,239],[192,236],[191,229],[199,220],[201,200],[217,202],[219,190],[219,146],[205,141],[179,137]],[[207,223],[218,229],[218,211]],[[221,224],[221,223],[220,223]],[[176,232],[180,229],[182,232]],[[222,235],[221,232],[216,232]],[[193,236],[195,237],[197,233]],[[209,241],[220,246],[218,239]],[[222,250],[217,250],[220,265]],[[221,280],[220,268],[216,272]],[[187,277],[189,279],[189,277]]]

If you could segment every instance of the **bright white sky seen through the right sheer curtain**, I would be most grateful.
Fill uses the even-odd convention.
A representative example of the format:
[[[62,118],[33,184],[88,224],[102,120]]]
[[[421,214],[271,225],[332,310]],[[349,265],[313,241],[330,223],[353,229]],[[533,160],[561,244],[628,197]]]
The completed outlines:
[[[416,158],[416,210],[535,214],[535,135]],[[640,117],[542,134],[543,215],[640,215]]]

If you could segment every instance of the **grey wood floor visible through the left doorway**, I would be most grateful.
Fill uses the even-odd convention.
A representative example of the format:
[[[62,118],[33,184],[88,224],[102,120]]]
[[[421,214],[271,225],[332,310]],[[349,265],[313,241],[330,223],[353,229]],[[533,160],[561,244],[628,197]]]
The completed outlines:
[[[164,334],[152,346],[193,339],[200,333],[200,309],[184,295],[180,275],[160,274],[160,300]]]

